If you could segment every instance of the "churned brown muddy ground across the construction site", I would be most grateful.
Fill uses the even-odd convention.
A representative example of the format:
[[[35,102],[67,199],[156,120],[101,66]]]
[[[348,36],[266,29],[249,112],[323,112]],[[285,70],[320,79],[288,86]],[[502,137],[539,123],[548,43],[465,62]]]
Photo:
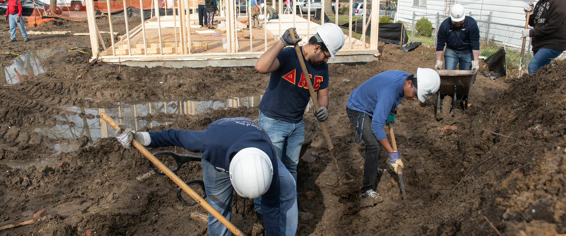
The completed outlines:
[[[119,20],[113,19],[119,24]],[[108,19],[97,19],[108,31]],[[139,24],[132,19],[131,25]],[[7,22],[0,22],[7,28]],[[87,22],[59,21],[28,31],[88,32]],[[106,27],[106,28],[105,28]],[[114,27],[123,35],[125,27]],[[19,33],[19,32],[18,32]],[[106,37],[108,38],[108,37]],[[2,52],[19,54],[62,46],[90,46],[89,36],[31,35],[29,42],[9,42],[0,36]],[[109,40],[106,45],[109,45]],[[397,108],[395,135],[405,163],[408,198],[402,200],[398,179],[387,169],[376,182],[380,201],[361,198],[363,142],[356,144],[346,117],[350,92],[387,70],[411,74],[435,65],[434,48],[402,53],[380,43],[379,61],[365,65],[329,65],[327,125],[342,169],[355,179],[335,184],[336,166],[329,157],[319,123],[305,113],[306,153],[298,166],[298,235],[538,235],[566,233],[566,62],[553,61],[535,75],[512,83],[478,74],[467,110],[441,113],[434,119],[436,98],[404,100]],[[206,222],[190,217],[206,213],[186,207],[175,196],[177,186],[151,171],[136,150],[115,138],[90,141],[50,138],[29,127],[72,125],[57,117],[73,106],[116,107],[118,101],[223,100],[259,95],[269,75],[253,68],[128,67],[89,63],[90,54],[64,52],[43,63],[43,74],[0,86],[0,163],[48,160],[49,165],[11,168],[0,164],[0,226],[29,220],[46,209],[37,222],[0,231],[0,235],[208,235]],[[0,66],[16,55],[0,53]],[[486,66],[481,62],[481,69]],[[195,115],[158,113],[139,119],[169,125],[144,127],[203,130],[224,117],[258,118],[257,107],[223,108]],[[83,115],[84,114],[78,114]],[[88,119],[96,119],[89,117]],[[113,135],[113,134],[111,134]],[[221,137],[218,137],[221,139]],[[61,147],[65,150],[61,151]],[[149,149],[150,152],[181,148]],[[192,153],[199,154],[199,153]],[[305,161],[308,160],[308,161]],[[200,163],[177,172],[183,180],[201,178]],[[262,235],[250,200],[239,198],[232,222],[247,235]],[[242,217],[242,211],[245,215]],[[198,214],[195,214],[198,215]]]

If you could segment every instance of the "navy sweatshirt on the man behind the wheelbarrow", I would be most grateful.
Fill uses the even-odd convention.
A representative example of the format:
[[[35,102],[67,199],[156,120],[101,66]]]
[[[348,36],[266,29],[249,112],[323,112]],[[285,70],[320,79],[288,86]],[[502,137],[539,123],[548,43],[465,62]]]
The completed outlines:
[[[479,50],[479,28],[474,18],[466,16],[461,27],[452,24],[452,18],[445,19],[438,27],[438,41],[436,51],[446,48],[452,49],[457,53],[471,53],[471,50]]]

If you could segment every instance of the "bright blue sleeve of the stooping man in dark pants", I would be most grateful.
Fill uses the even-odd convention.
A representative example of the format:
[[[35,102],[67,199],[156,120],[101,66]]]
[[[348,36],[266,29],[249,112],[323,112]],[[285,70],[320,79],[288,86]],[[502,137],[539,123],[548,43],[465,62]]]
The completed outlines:
[[[387,91],[387,89],[384,89],[384,91]],[[371,119],[371,131],[378,140],[387,138],[387,135],[385,135],[383,131],[383,126],[385,126],[385,121],[387,121],[389,112],[391,112],[391,108],[395,102],[392,96],[395,96],[393,92],[383,92],[378,98],[378,102],[375,104],[374,116]]]

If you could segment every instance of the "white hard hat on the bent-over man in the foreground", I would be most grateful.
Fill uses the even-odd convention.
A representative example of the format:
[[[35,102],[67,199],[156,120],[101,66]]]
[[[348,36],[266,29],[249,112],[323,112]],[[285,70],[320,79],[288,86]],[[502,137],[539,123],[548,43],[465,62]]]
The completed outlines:
[[[265,194],[273,178],[273,165],[259,148],[244,148],[230,162],[230,182],[238,195],[259,198]]]

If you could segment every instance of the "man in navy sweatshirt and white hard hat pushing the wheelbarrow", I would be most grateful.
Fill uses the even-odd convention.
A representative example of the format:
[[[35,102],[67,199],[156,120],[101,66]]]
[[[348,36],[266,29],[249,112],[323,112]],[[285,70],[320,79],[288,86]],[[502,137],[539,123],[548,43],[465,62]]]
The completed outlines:
[[[464,6],[455,4],[450,8],[450,18],[438,27],[435,69],[442,67],[444,44],[445,70],[456,70],[458,62],[460,70],[479,69],[479,28],[474,18],[464,15],[465,11]]]

